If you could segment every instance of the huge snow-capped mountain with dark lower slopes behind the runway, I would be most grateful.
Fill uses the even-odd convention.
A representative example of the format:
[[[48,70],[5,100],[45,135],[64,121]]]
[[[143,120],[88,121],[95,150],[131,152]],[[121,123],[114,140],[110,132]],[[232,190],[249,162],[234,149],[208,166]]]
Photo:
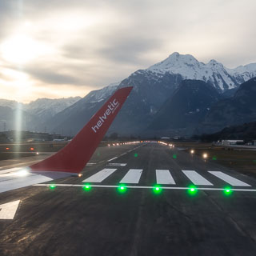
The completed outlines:
[[[174,53],[146,70],[135,71],[122,82],[78,98],[74,104],[48,115],[43,126],[51,132],[74,135],[114,90],[134,86],[108,134],[190,136],[215,132],[234,124],[235,113],[239,108],[247,112],[244,118],[241,112],[238,122],[255,120],[254,105],[249,103],[256,96],[255,81],[251,79],[254,77],[256,63],[228,69],[215,60],[205,64],[190,54]],[[245,87],[240,85],[248,80],[252,85],[246,93]],[[248,104],[247,97],[250,97]],[[242,102],[244,105],[241,105]],[[32,104],[30,106],[30,115],[41,115],[38,108]],[[234,106],[238,107],[232,112]],[[230,109],[226,110],[226,107]]]

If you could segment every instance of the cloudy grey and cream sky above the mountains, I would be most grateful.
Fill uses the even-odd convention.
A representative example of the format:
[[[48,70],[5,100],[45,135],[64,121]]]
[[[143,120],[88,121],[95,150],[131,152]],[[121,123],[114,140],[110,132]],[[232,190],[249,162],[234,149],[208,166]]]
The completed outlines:
[[[1,0],[0,98],[85,96],[174,51],[256,62],[254,0]]]

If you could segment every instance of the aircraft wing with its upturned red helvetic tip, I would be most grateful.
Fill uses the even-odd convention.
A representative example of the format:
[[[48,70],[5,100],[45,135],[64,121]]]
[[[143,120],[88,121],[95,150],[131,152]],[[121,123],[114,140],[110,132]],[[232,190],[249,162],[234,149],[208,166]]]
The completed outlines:
[[[133,87],[118,89],[62,150],[32,166],[0,171],[0,193],[78,175],[94,154]]]

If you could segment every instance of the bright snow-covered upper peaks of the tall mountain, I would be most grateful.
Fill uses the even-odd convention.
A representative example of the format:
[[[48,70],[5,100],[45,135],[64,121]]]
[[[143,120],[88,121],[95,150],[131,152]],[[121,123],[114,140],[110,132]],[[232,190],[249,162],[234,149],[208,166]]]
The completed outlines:
[[[171,54],[164,61],[150,66],[147,71],[159,77],[163,74],[181,74],[183,79],[197,79],[212,84],[219,92],[238,87],[242,82],[256,76],[256,63],[228,69],[222,63],[210,60],[208,63],[198,62],[190,54]]]

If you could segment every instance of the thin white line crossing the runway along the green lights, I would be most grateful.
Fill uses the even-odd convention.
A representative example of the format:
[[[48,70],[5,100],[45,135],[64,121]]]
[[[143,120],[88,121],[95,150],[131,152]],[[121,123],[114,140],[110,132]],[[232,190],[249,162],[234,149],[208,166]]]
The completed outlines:
[[[33,186],[50,186],[50,184],[35,184]],[[83,187],[84,185],[80,184],[54,184],[54,186],[67,186],[67,187]],[[99,188],[118,188],[117,185],[90,185],[90,187],[99,187]],[[126,186],[129,189],[154,189],[155,186]],[[161,186],[163,190],[189,190],[189,187],[186,186]],[[210,187],[198,187],[197,190],[212,190],[212,191],[224,191],[225,188],[210,188]],[[230,189],[232,191],[240,192],[256,192],[254,189]]]

